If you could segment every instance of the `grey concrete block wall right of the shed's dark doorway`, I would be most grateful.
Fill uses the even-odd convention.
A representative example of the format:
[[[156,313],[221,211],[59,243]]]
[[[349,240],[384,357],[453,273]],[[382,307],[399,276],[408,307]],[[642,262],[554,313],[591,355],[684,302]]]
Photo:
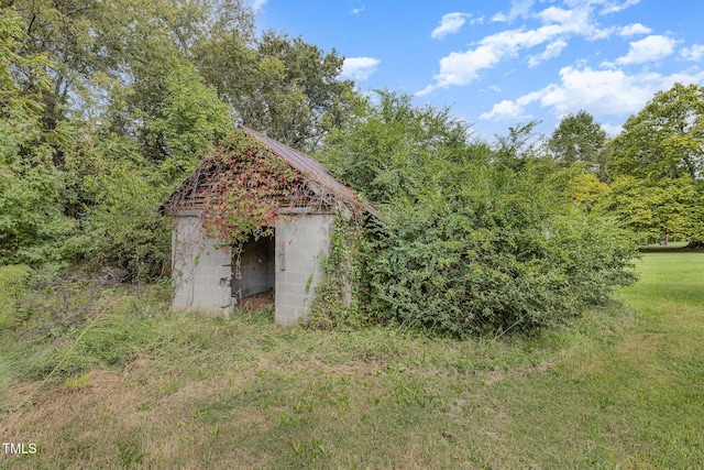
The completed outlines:
[[[322,276],[321,256],[330,252],[332,215],[297,215],[276,220],[276,323],[305,319]]]

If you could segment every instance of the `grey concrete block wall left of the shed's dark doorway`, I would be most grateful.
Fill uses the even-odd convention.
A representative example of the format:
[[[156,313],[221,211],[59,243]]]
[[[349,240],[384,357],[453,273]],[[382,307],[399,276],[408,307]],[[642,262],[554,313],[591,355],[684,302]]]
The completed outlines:
[[[232,252],[206,237],[197,216],[174,218],[172,280],[175,311],[223,314],[230,304]]]

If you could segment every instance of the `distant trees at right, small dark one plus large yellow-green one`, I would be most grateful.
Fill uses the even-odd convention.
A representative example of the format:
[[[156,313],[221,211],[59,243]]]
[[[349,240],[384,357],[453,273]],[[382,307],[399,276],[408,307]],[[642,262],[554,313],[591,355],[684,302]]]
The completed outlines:
[[[570,114],[549,139],[548,152],[559,162],[584,164],[587,173],[574,196],[598,203],[640,243],[674,237],[702,248],[703,86],[674,84],[656,94],[613,139],[586,111]]]

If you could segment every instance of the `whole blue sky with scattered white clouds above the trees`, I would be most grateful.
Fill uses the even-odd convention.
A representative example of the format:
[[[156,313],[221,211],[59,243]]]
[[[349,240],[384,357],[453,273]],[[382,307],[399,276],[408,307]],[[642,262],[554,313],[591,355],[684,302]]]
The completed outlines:
[[[659,90],[704,85],[702,0],[254,0],[257,28],[345,57],[360,90],[451,107],[492,140],[584,109],[620,131]]]

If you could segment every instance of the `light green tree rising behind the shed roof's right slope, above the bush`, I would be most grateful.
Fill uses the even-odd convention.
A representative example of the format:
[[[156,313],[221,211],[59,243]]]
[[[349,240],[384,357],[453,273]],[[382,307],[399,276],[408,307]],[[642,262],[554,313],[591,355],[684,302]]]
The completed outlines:
[[[438,167],[428,179],[428,165],[462,160],[470,129],[449,109],[416,108],[409,95],[377,95],[378,103],[361,101],[355,117],[333,130],[320,159],[364,197],[383,204],[439,181],[446,170]]]

